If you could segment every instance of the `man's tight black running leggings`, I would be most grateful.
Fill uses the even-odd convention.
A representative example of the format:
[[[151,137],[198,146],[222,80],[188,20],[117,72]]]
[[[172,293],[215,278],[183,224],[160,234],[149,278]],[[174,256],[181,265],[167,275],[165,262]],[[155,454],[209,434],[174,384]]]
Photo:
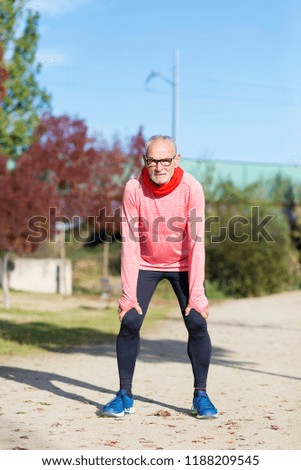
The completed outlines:
[[[140,347],[140,328],[151,297],[162,279],[168,279],[178,298],[182,316],[188,330],[187,352],[191,361],[194,387],[206,389],[208,368],[211,359],[211,341],[206,320],[196,310],[184,315],[188,303],[188,273],[171,271],[140,270],[137,284],[137,299],[143,314],[135,308],[129,310],[122,319],[117,337],[116,350],[120,378],[120,388],[131,391],[136,359]]]

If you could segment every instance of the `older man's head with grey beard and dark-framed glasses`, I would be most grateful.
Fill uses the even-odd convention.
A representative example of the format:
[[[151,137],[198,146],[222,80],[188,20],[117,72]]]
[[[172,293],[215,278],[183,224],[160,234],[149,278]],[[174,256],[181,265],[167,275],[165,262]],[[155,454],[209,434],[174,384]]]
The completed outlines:
[[[175,157],[175,158],[173,158]],[[168,183],[171,179],[175,168],[179,165],[180,154],[175,154],[175,148],[172,142],[167,140],[154,140],[147,149],[147,159],[162,160],[173,158],[170,166],[164,166],[162,163],[152,162],[150,165],[145,163],[148,174],[152,181],[156,184]]]

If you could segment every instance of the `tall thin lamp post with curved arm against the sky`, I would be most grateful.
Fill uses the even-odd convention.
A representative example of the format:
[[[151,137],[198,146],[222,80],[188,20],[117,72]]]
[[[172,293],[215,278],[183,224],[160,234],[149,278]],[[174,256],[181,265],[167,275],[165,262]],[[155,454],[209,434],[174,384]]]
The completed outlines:
[[[159,77],[172,87],[172,137],[176,141],[178,136],[178,101],[179,101],[179,50],[175,49],[173,53],[173,78],[172,80],[160,72],[151,72],[145,80],[148,85],[150,80]]]

